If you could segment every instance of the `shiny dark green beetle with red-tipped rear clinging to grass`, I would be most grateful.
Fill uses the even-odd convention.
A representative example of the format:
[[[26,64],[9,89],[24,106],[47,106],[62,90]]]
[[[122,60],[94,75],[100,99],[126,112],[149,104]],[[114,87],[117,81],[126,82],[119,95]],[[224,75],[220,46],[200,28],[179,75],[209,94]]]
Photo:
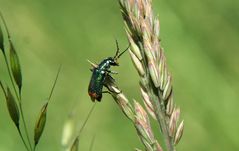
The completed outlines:
[[[98,65],[91,63],[93,68],[91,69],[92,75],[88,87],[88,94],[93,102],[95,102],[95,100],[100,102],[102,99],[102,93],[110,93],[109,91],[103,91],[103,86],[105,86],[106,79],[113,79],[110,74],[117,74],[117,72],[111,71],[110,67],[119,66],[118,59],[128,50],[129,46],[120,53],[118,42],[116,40],[116,48],[117,50],[114,57],[107,57]]]

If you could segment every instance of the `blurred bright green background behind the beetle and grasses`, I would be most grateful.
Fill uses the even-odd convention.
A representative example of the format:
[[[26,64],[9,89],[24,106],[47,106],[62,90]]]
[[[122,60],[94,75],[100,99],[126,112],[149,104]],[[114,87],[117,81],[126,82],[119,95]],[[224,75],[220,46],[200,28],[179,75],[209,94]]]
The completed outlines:
[[[182,151],[239,150],[239,1],[154,0],[161,39],[174,80],[174,100],[181,107],[185,133]],[[0,0],[23,70],[23,108],[31,136],[49,95],[59,64],[62,71],[48,110],[38,150],[63,150],[62,127],[76,111],[82,124],[92,102],[87,59],[112,56],[115,38],[127,46],[116,0]],[[0,56],[0,79],[7,79]],[[141,101],[138,77],[129,55],[114,68],[128,96]],[[132,100],[132,99],[131,99]],[[156,133],[157,125],[153,124]],[[80,150],[122,151],[143,148],[134,127],[109,95],[98,103],[80,137]],[[160,137],[160,136],[159,136]],[[0,150],[24,150],[0,93]]]

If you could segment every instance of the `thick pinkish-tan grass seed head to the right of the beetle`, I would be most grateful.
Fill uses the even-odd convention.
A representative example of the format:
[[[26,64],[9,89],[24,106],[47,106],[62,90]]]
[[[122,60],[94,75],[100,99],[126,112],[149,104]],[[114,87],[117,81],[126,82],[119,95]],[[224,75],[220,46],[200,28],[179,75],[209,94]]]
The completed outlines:
[[[146,109],[151,115],[155,113],[166,148],[174,151],[173,138],[180,112],[174,110],[172,80],[167,69],[163,48],[160,45],[160,24],[158,17],[153,13],[152,0],[119,0],[119,3],[126,34],[131,43],[131,59],[140,75],[140,85],[143,89],[141,93]],[[139,111],[139,109],[135,110],[135,113]],[[147,124],[143,118],[140,119],[138,114],[135,120],[138,133],[145,136],[144,139],[141,137],[141,141],[146,150],[161,151],[162,148],[152,148],[153,142],[149,144],[147,141],[147,133],[143,132]]]

